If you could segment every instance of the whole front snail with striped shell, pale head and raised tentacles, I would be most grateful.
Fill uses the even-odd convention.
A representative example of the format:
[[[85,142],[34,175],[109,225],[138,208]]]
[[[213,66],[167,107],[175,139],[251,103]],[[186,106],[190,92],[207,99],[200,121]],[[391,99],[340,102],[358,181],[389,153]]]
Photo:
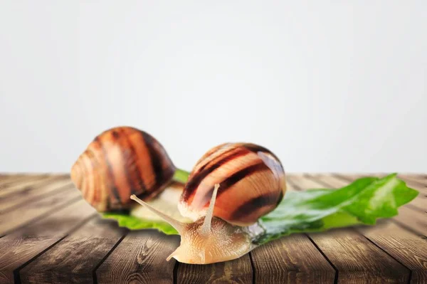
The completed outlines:
[[[130,198],[170,223],[181,244],[167,258],[207,264],[239,258],[257,246],[257,220],[273,211],[286,191],[278,157],[249,143],[225,143],[204,154],[189,175],[178,221],[132,195]]]

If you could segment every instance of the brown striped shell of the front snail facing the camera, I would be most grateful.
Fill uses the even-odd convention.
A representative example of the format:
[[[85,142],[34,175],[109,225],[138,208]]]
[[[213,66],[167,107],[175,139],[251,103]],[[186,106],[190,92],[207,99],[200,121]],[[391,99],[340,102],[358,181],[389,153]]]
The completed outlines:
[[[214,216],[238,226],[273,211],[286,191],[278,157],[250,143],[225,143],[196,163],[179,201],[179,211],[196,221],[206,214],[214,185],[220,184]]]

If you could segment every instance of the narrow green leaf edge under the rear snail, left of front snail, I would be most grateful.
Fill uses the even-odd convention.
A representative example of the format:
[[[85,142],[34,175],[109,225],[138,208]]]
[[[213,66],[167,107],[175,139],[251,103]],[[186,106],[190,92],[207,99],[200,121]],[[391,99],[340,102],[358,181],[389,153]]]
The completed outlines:
[[[140,230],[143,228],[156,228],[167,235],[178,235],[178,232],[169,223],[163,221],[144,220],[134,216],[121,213],[104,213],[105,219],[115,219],[120,227],[129,228],[130,230]]]

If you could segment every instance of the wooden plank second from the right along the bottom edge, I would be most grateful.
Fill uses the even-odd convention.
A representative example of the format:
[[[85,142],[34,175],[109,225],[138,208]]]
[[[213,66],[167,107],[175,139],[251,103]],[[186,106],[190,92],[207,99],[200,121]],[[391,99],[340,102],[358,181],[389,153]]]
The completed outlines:
[[[299,183],[296,185],[305,189]],[[408,281],[408,268],[352,229],[310,233],[309,236],[338,270],[338,283]]]

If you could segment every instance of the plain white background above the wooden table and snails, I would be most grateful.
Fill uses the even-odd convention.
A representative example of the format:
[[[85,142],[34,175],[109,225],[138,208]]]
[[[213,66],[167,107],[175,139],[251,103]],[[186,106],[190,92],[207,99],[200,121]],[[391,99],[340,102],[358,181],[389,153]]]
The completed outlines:
[[[132,125],[191,169],[427,172],[427,1],[0,1],[0,172],[68,172]]]

